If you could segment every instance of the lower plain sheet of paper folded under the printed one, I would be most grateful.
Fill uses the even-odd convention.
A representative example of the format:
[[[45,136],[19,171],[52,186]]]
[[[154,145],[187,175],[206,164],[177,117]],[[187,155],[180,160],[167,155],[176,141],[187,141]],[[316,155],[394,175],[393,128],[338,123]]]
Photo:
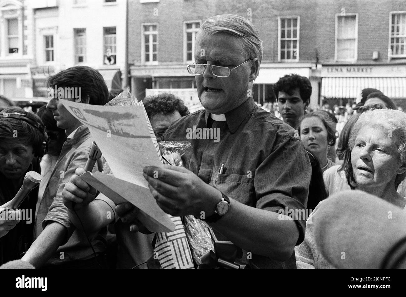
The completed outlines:
[[[85,172],[80,176],[86,183],[106,195],[114,203],[131,202],[140,209],[138,220],[152,232],[173,232],[175,224],[156,204],[149,189],[122,181],[102,172]]]

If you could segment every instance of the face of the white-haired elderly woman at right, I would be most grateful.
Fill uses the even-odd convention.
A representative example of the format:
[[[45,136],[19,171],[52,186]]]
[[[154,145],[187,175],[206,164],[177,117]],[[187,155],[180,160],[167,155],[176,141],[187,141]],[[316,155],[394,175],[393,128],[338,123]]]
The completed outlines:
[[[397,152],[396,139],[383,127],[365,125],[351,151],[354,179],[361,187],[384,187],[394,183],[405,168]]]

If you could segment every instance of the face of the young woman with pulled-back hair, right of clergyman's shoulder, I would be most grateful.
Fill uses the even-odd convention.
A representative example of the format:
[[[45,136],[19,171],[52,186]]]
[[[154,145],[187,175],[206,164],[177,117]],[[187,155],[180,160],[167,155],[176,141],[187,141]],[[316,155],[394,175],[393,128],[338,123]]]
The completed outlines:
[[[327,129],[320,118],[312,116],[303,119],[300,123],[300,139],[312,154],[327,154]]]

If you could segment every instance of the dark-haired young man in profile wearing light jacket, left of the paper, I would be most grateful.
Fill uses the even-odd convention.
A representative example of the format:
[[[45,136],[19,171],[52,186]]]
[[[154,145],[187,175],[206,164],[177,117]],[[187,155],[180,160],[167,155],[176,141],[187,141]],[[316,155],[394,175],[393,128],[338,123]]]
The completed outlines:
[[[104,105],[108,99],[108,89],[97,70],[84,66],[71,67],[51,76],[48,79],[48,87],[53,96],[47,108],[52,110],[56,125],[65,129],[67,140],[63,144],[58,161],[38,204],[34,231],[36,239],[22,260],[28,261],[36,268],[47,262],[47,267],[50,269],[105,267],[106,228],[92,234],[84,234],[83,231],[77,230],[71,223],[68,210],[62,202],[65,183],[75,173],[76,168],[85,166],[92,139],[89,129],[72,116],[60,101],[67,99]],[[69,92],[81,94],[81,96],[63,98],[62,94],[66,95]],[[99,159],[93,172],[102,171],[102,163],[102,159]],[[106,202],[102,198],[96,201],[102,204],[109,202],[111,200]],[[111,202],[109,207],[113,212],[115,205]],[[91,241],[91,245],[86,237]]]

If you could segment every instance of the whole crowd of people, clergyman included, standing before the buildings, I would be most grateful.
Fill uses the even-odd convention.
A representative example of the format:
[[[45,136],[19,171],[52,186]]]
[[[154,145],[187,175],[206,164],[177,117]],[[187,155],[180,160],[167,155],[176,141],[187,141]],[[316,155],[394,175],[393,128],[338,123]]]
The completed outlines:
[[[335,267],[315,243],[312,220],[330,195],[358,189],[405,208],[406,114],[382,92],[365,89],[355,106],[310,110],[309,80],[288,74],[274,84],[277,104],[261,108],[247,92],[263,52],[250,21],[237,15],[206,19],[196,46],[205,54],[196,52],[188,71],[204,109],[190,113],[169,93],[143,99],[158,142],[191,144],[183,167],[143,168],[165,213],[205,221],[216,241],[242,250],[234,260],[246,267],[328,269]],[[47,84],[81,88],[81,103],[105,105],[113,97],[91,67],[63,70]],[[218,129],[220,141],[187,138],[191,127]],[[163,267],[155,257],[157,234],[140,222],[139,209],[115,204],[79,177],[92,141],[56,94],[37,114],[1,110],[0,211],[9,215],[0,220],[0,264],[22,259],[37,269]],[[8,209],[30,170],[41,174],[39,188],[19,209]],[[103,157],[96,171],[112,174]],[[32,222],[22,220],[27,210]],[[285,210],[311,215],[281,219]],[[193,266],[200,267],[199,259]]]

